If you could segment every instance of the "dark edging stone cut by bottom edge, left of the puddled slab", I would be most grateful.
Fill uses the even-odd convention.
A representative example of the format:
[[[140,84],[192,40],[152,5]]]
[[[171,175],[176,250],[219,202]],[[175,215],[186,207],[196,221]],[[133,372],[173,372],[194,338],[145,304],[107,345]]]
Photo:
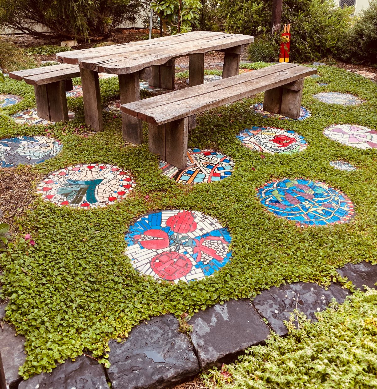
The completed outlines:
[[[58,364],[51,373],[41,373],[22,381],[18,389],[109,389],[103,366],[95,359],[79,356]]]

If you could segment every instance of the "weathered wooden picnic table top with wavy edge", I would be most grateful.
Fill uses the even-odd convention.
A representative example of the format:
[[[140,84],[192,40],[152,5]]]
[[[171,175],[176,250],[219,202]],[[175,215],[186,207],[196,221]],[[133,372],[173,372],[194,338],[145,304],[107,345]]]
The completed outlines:
[[[226,50],[252,42],[254,37],[251,35],[193,31],[140,42],[65,51],[56,54],[56,59],[95,72],[129,74],[188,54]]]

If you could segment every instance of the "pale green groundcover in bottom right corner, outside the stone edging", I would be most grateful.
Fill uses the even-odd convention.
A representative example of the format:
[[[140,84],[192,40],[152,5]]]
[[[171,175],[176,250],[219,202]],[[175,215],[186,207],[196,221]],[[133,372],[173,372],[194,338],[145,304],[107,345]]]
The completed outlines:
[[[237,363],[212,370],[218,388],[377,387],[377,291],[356,292],[342,305],[317,314],[319,322],[292,321],[286,338],[271,333],[265,346],[251,347]],[[231,382],[231,383],[228,383]]]

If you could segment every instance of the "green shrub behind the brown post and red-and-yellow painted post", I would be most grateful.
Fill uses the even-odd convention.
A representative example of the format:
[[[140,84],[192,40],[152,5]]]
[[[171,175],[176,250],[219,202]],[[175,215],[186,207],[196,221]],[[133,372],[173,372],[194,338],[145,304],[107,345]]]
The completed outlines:
[[[276,45],[270,31],[272,0],[220,0],[219,12],[226,15],[226,31],[261,35],[251,48],[251,60],[269,60]],[[349,29],[353,8],[335,8],[332,0],[288,0],[283,3],[282,23],[291,24],[293,61],[312,61],[335,55],[339,42]],[[254,53],[255,52],[255,53]]]

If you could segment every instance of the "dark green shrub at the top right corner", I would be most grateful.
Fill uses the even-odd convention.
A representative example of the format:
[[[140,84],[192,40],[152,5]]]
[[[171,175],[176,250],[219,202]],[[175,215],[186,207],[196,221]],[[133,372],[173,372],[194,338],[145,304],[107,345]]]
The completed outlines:
[[[377,0],[371,0],[342,42],[339,58],[353,63],[377,63]]]

